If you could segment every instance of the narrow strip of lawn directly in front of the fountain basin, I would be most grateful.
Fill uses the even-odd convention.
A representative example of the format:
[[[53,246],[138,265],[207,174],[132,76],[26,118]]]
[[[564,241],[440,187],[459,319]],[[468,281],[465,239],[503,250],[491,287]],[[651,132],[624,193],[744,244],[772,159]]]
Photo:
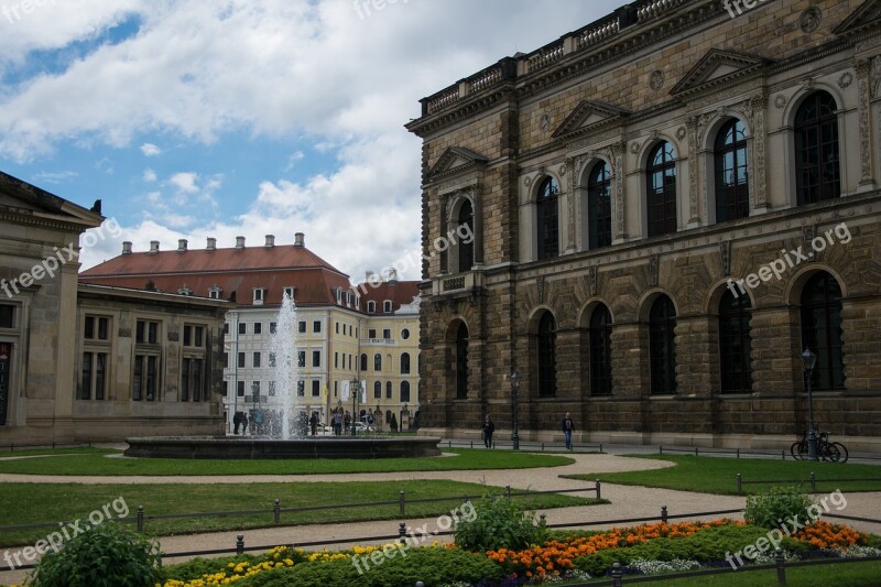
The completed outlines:
[[[120,455],[119,450],[110,453]],[[106,453],[58,455],[56,458],[0,460],[0,472],[31,475],[320,475],[477,469],[529,469],[574,463],[558,455],[445,448],[455,456],[374,459],[221,460],[109,458]]]

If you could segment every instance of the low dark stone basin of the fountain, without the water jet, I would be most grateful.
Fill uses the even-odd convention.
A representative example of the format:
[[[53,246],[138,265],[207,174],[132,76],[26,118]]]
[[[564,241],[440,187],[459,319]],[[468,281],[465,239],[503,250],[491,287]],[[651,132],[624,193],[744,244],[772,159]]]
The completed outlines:
[[[228,436],[157,436],[126,438],[127,457],[140,458],[413,458],[440,455],[440,438],[431,436],[328,436],[281,441]]]

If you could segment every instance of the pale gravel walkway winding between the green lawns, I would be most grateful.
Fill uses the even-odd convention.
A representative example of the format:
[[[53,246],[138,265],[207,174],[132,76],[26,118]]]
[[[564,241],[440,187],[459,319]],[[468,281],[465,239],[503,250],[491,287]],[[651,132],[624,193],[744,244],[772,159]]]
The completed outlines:
[[[40,475],[0,475],[0,482],[80,482],[80,483],[242,483],[242,482],[318,482],[318,481],[388,481],[410,479],[445,479],[490,486],[511,486],[514,489],[559,490],[578,489],[592,486],[584,481],[562,479],[561,475],[585,472],[618,472],[628,470],[649,470],[671,466],[653,459],[634,459],[610,454],[572,454],[575,463],[564,467],[546,467],[516,470],[475,470],[475,471],[406,471],[406,472],[370,472],[345,475],[254,475],[235,478],[217,476],[166,476],[166,477],[68,477]],[[626,518],[657,517],[661,506],[667,507],[670,515],[689,512],[741,509],[746,498],[737,496],[717,496],[689,491],[674,491],[613,483],[602,485],[602,497],[611,503],[589,507],[551,509],[544,512],[550,524],[585,522],[584,528],[608,528],[611,524],[603,520]],[[822,496],[818,496],[822,497]],[[881,492],[848,493],[847,507],[841,513],[873,518],[881,511]],[[835,512],[831,512],[835,513]],[[707,518],[719,518],[704,517]],[[739,518],[739,515],[730,515]],[[412,528],[427,524],[427,530],[437,530],[437,519],[407,520]],[[589,522],[600,522],[590,524]],[[881,534],[881,524],[847,521],[849,525],[863,532]],[[317,542],[358,537],[359,544],[367,544],[368,536],[384,536],[398,533],[399,521],[357,522],[350,524],[313,524],[243,532],[214,532],[184,536],[166,536],[161,540],[162,550],[166,553],[186,552],[191,550],[231,548],[236,545],[236,536],[244,534],[246,546],[270,546],[279,544]],[[443,541],[443,539],[442,539]],[[347,547],[352,543],[340,543],[331,548]],[[316,547],[319,550],[320,547]],[[174,562],[168,558],[168,563]],[[20,581],[24,573],[0,573],[0,584]]]

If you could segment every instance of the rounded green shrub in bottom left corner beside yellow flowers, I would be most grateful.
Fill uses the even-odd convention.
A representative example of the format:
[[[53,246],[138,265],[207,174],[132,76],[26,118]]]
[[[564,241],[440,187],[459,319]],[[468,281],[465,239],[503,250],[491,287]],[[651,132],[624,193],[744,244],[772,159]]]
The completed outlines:
[[[33,587],[152,587],[161,578],[157,544],[106,523],[74,536],[40,559]]]

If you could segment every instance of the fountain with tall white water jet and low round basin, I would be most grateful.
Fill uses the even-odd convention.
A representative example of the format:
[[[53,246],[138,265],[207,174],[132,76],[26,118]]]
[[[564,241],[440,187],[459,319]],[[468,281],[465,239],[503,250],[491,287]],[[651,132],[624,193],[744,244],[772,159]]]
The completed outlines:
[[[224,458],[224,459],[303,459],[303,458],[394,458],[438,456],[440,438],[383,437],[383,436],[311,436],[298,434],[294,414],[301,407],[297,390],[300,366],[297,362],[296,306],[285,294],[272,336],[275,356],[275,395],[267,402],[270,414],[280,414],[281,425],[274,417],[264,420],[270,434],[263,436],[215,437],[152,437],[126,438],[126,456],[146,458]]]

